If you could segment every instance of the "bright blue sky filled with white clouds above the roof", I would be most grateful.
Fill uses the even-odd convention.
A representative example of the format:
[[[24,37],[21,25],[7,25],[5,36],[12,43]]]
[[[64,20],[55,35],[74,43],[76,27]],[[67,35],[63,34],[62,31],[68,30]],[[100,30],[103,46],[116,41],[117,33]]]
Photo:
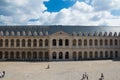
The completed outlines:
[[[120,26],[120,0],[0,0],[0,25]]]

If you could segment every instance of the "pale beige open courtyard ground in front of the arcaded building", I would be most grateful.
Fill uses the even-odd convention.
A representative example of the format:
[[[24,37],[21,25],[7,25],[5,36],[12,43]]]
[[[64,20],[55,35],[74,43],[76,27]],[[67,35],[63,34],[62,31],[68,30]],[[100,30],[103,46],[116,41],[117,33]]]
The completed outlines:
[[[48,64],[50,69],[46,69]],[[80,80],[87,72],[89,80],[120,80],[120,61],[0,62],[0,80]]]

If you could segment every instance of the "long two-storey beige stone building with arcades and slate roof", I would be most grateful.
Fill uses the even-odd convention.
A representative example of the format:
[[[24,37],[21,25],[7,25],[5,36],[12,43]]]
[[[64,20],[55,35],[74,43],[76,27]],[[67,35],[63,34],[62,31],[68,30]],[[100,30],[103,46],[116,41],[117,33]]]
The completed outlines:
[[[119,59],[119,31],[100,26],[0,26],[0,60]]]

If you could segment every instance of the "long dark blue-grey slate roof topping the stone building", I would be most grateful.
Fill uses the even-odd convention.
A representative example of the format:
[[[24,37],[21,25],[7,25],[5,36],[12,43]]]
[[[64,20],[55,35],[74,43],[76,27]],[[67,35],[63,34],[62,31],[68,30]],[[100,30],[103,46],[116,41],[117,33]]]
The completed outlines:
[[[120,32],[120,27],[119,26],[69,26],[69,25],[7,25],[7,26],[0,26],[0,31],[3,31],[5,34],[6,31],[8,31],[11,35],[11,32],[13,31],[15,35],[19,31],[21,34],[23,31],[28,35],[28,32],[30,31],[33,35],[34,32],[37,32],[39,34],[40,32],[43,32],[45,35],[46,32],[48,34],[53,34],[58,31],[64,31],[69,34],[73,34],[74,32],[79,33],[79,32],[112,32],[112,33],[119,33]]]

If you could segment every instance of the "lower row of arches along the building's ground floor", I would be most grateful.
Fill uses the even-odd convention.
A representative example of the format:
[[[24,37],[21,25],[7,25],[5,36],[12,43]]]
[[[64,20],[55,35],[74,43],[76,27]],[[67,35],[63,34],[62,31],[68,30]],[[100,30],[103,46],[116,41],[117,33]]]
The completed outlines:
[[[120,58],[119,50],[0,50],[0,60],[87,60]]]

